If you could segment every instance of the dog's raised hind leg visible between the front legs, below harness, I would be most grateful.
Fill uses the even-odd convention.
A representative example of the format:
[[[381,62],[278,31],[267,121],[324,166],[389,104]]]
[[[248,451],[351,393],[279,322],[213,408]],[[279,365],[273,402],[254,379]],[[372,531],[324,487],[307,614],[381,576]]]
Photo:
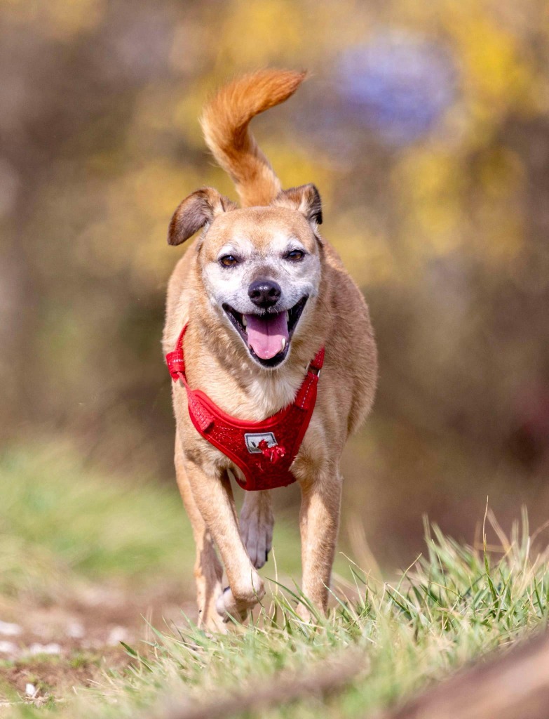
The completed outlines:
[[[240,536],[255,569],[263,567],[273,544],[271,493],[246,492],[240,510]]]

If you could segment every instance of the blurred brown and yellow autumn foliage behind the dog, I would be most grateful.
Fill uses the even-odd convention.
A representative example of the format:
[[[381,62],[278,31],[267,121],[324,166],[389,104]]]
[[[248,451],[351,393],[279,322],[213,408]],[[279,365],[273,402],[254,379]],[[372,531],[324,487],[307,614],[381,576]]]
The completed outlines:
[[[177,496],[166,228],[200,186],[235,198],[197,117],[273,65],[311,77],[253,131],[284,187],[319,187],[380,351],[341,548],[406,566],[424,514],[473,541],[487,497],[548,519],[545,1],[1,0],[0,22],[4,498],[21,457],[31,487],[69,455],[64,487],[93,467]],[[276,501],[296,516],[295,487]]]

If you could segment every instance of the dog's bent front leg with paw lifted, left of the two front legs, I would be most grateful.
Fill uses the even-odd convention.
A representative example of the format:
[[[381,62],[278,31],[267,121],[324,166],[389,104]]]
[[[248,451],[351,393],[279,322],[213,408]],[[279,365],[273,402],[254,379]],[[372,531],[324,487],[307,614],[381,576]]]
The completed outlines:
[[[230,482],[224,475],[205,472],[194,462],[187,462],[186,471],[194,502],[227,572],[229,586],[217,597],[217,612],[225,621],[230,616],[244,619],[265,595],[265,587],[240,539]]]

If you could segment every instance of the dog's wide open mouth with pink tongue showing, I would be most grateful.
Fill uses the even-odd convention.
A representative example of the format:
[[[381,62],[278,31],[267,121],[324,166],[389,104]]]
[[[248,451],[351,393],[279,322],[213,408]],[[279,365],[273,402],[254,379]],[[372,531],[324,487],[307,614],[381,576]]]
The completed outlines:
[[[227,304],[223,305],[223,309],[253,359],[264,367],[276,367],[288,354],[291,336],[306,301],[307,297],[302,297],[291,309],[284,312],[241,314]]]

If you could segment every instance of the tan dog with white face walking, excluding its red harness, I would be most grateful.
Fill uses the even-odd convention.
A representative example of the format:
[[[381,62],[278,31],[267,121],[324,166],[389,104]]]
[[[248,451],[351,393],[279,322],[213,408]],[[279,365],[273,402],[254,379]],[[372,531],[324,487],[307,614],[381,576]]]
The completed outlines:
[[[163,345],[165,354],[173,350],[188,323],[189,386],[250,421],[292,403],[307,365],[325,347],[316,407],[291,467],[302,496],[302,588],[325,611],[339,525],[339,459],[372,405],[377,357],[360,290],[319,235],[318,191],[314,185],[282,191],[248,131],[253,116],[286,100],[303,79],[304,73],[262,70],[222,88],[206,107],[207,145],[235,181],[242,209],[212,188],[177,208],[169,244],[202,233],[169,282]],[[173,400],[177,482],[197,546],[199,620],[222,630],[223,620],[244,618],[265,593],[256,570],[271,549],[271,496],[246,492],[239,527],[229,479],[238,468],[194,428],[180,382]],[[225,591],[215,546],[227,572]],[[299,611],[308,615],[304,606]]]

